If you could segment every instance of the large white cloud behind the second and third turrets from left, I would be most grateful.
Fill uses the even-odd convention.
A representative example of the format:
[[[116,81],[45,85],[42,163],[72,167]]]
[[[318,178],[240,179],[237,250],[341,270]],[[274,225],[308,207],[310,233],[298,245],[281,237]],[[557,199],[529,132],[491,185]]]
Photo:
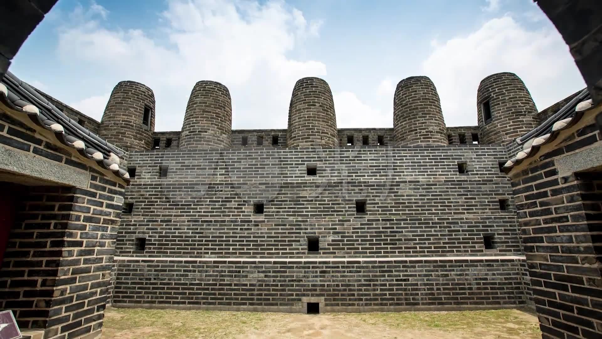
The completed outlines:
[[[140,81],[157,101],[156,130],[179,130],[194,83],[215,80],[231,92],[234,128],[285,128],[291,91],[302,77],[326,75],[326,65],[294,60],[288,52],[317,36],[321,21],[281,1],[170,0],[155,37],[141,30],[107,28],[99,5],[70,14],[61,27],[58,52],[102,69],[115,81]],[[73,103],[102,115],[106,87]],[[112,87],[111,86],[111,87]]]

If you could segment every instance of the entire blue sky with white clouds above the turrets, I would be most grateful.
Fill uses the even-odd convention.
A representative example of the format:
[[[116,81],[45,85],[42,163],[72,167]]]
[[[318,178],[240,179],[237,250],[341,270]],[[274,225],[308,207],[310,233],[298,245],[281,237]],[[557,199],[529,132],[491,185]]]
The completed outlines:
[[[392,127],[403,78],[429,76],[448,126],[476,125],[482,78],[515,72],[539,110],[585,87],[531,0],[59,0],[10,71],[100,120],[111,90],[155,92],[179,130],[199,80],[225,84],[233,128],[286,128],[295,81],[321,77],[337,125]]]

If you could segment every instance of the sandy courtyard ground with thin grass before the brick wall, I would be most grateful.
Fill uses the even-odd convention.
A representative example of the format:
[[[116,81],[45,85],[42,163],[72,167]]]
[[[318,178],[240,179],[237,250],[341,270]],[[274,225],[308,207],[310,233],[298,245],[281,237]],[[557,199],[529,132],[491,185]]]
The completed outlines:
[[[517,309],[317,315],[107,308],[104,339],[538,339],[537,317]]]

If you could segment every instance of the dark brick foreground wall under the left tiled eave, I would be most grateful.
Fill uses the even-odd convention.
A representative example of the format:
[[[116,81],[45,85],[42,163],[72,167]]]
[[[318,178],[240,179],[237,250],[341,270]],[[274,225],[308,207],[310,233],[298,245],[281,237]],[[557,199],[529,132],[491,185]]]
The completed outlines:
[[[11,309],[21,328],[43,329],[46,339],[99,334],[123,182],[4,112],[0,144],[90,177],[82,188],[2,183],[16,202],[16,221],[0,269],[0,309]]]

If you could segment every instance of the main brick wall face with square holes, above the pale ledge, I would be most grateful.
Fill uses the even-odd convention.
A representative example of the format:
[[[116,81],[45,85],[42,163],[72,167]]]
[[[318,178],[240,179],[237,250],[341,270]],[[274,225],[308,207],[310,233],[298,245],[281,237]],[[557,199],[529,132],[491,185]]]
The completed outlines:
[[[119,255],[302,258],[520,254],[503,147],[135,152]],[[467,162],[468,173],[458,173]],[[317,175],[308,176],[308,164]],[[159,177],[168,165],[166,177]],[[428,192],[428,194],[426,194]],[[355,200],[367,200],[356,214]],[[264,203],[264,214],[253,214]],[[486,250],[483,235],[494,235]],[[134,251],[136,237],[146,250]],[[313,255],[315,256],[315,255]]]

